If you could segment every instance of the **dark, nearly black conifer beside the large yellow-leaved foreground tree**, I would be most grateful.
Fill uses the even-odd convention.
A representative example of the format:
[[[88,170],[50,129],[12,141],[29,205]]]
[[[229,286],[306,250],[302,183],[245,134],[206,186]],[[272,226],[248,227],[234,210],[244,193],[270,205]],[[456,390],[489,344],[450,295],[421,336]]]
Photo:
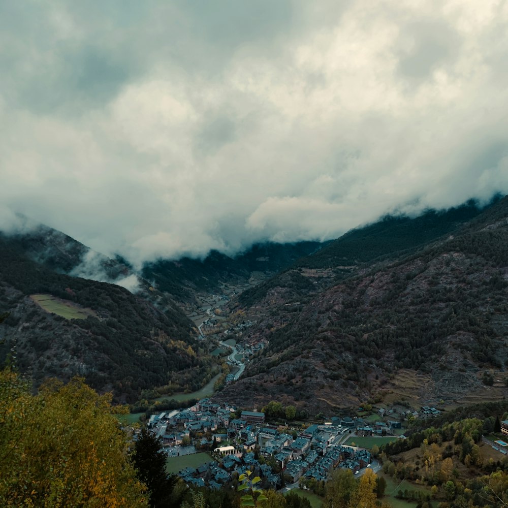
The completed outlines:
[[[166,454],[161,450],[161,440],[146,427],[141,429],[134,443],[133,461],[139,479],[148,487],[150,506],[168,506],[176,477],[166,473]]]

